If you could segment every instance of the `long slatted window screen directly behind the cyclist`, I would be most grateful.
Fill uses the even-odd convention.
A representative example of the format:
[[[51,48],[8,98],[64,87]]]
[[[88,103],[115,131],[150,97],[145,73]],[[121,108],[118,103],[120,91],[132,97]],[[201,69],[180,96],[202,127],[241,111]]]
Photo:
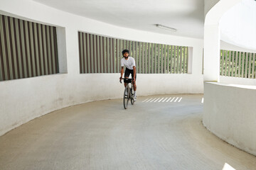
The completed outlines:
[[[137,73],[185,74],[188,47],[135,42],[78,32],[80,73],[119,73],[122,50],[134,57]]]

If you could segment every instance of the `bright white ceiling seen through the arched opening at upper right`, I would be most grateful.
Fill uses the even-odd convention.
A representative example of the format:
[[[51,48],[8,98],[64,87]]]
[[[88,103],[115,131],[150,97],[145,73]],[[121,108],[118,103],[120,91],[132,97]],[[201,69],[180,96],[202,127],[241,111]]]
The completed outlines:
[[[256,50],[256,1],[243,0],[220,20],[220,39],[239,47]]]

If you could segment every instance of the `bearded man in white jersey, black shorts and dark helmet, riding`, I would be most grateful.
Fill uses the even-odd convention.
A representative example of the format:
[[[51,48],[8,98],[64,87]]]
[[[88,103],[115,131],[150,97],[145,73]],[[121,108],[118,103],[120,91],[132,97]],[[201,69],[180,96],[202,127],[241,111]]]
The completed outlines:
[[[129,75],[132,74],[132,84],[134,86],[134,101],[137,101],[137,86],[136,86],[136,65],[135,65],[135,60],[133,57],[129,57],[129,50],[123,50],[122,51],[123,58],[121,60],[121,77],[119,78],[120,81],[122,80],[122,75],[124,74],[124,78],[128,79]],[[124,66],[126,67],[125,72],[124,72]],[[124,83],[124,87],[126,87],[127,84]],[[127,95],[127,94],[126,94]]]

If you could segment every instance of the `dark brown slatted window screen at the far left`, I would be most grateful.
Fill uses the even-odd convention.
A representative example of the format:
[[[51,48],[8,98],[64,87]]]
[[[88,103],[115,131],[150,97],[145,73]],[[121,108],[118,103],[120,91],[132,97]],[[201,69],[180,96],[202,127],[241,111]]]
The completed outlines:
[[[55,27],[0,15],[0,81],[58,72]]]

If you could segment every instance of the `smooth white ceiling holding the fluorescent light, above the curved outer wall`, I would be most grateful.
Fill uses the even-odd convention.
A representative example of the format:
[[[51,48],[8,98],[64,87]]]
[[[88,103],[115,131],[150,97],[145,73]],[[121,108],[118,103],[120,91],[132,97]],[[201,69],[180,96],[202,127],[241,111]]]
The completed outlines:
[[[34,0],[115,26],[203,38],[204,0]],[[176,28],[156,28],[155,24]]]

